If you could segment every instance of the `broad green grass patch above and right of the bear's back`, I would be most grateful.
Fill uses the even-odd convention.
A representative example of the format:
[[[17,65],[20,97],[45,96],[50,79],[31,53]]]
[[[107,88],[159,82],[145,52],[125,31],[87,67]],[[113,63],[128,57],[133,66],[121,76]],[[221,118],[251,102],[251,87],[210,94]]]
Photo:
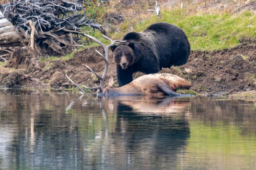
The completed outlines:
[[[242,40],[256,38],[256,15],[245,11],[236,15],[190,15],[185,10],[162,11],[161,18],[152,16],[139,23],[139,32],[156,22],[168,22],[180,27],[188,36],[191,49],[214,51],[235,47]]]

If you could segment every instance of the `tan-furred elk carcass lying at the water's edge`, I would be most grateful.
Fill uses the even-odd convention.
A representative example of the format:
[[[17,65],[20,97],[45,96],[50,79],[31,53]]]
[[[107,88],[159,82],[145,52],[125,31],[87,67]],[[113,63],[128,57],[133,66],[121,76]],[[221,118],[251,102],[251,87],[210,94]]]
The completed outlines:
[[[102,92],[104,95],[167,95],[165,91],[161,90],[159,84],[168,85],[173,94],[177,94],[174,93],[177,88],[189,89],[192,86],[189,81],[173,74],[150,74],[139,77],[120,88],[108,86],[103,88]]]

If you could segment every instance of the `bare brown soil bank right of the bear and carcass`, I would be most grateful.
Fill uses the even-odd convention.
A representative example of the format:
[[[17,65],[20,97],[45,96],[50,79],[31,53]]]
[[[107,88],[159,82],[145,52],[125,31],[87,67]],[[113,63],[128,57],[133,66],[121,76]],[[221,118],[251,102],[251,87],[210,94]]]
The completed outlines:
[[[256,90],[256,45],[243,44],[216,52],[192,51],[188,63],[162,69],[192,82],[202,95],[227,95]]]

